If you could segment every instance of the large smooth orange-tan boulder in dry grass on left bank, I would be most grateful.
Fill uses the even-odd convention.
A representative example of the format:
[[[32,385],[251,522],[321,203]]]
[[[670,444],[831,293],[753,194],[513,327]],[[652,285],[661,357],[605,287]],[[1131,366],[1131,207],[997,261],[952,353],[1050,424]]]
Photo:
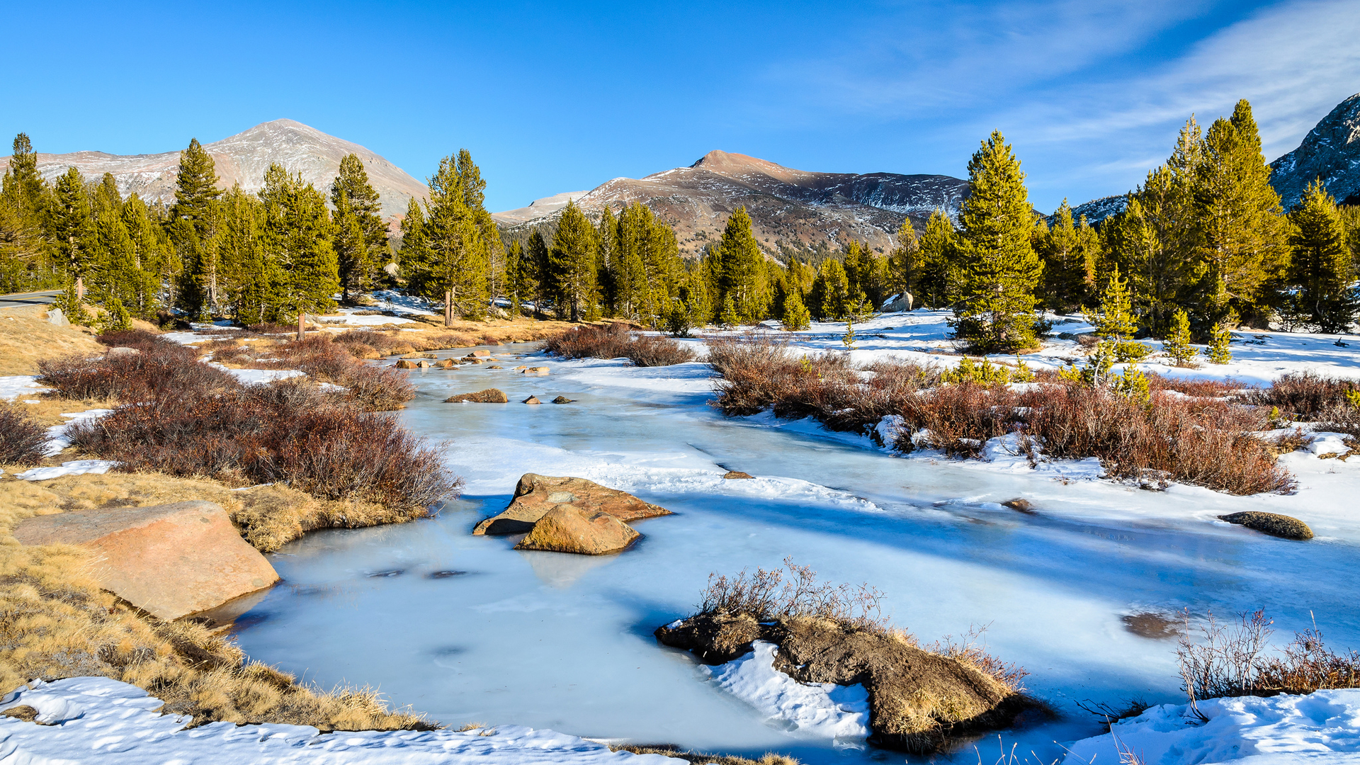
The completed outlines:
[[[205,611],[279,581],[222,505],[174,502],[27,519],[24,544],[79,544],[95,553],[99,587],[162,619]]]

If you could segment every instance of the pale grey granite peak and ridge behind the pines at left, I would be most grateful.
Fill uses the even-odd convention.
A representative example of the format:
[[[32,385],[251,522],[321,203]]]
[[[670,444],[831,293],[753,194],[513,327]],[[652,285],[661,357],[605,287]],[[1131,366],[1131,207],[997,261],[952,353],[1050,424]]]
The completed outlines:
[[[188,142],[185,142],[188,146]],[[347,154],[358,154],[369,172],[369,181],[382,200],[382,215],[405,214],[412,196],[424,199],[427,189],[405,170],[388,162],[373,150],[337,139],[316,128],[292,120],[258,124],[249,131],[204,144],[218,169],[218,184],[228,189],[241,184],[245,191],[260,191],[264,172],[277,162],[291,173],[302,173],[329,196],[330,181],[340,172],[340,161]],[[0,163],[8,158],[0,159]],[[99,180],[112,173],[124,195],[136,192],[147,201],[174,201],[175,174],[180,169],[180,150],[165,154],[137,154],[120,157],[102,151],[73,154],[38,154],[38,172],[52,181],[76,167],[88,180]]]

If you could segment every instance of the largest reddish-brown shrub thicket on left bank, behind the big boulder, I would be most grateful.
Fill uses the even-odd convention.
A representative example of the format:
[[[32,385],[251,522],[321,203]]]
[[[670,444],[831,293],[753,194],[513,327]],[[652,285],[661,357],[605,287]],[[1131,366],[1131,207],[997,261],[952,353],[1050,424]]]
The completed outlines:
[[[423,510],[457,491],[441,453],[388,415],[336,402],[298,380],[192,399],[156,396],[72,427],[72,442],[128,470],[284,482]]]

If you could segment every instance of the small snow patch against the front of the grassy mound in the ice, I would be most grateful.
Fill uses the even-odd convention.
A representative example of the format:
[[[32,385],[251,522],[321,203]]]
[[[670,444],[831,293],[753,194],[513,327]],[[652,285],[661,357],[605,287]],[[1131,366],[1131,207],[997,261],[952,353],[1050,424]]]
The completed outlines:
[[[862,685],[800,683],[774,668],[778,647],[758,640],[752,652],[718,667],[702,667],[721,687],[790,726],[820,738],[869,735],[869,691]]]

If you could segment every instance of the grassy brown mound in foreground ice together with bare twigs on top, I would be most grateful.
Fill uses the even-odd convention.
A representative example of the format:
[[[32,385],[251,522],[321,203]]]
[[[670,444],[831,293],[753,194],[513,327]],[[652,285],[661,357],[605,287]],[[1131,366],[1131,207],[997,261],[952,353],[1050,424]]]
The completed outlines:
[[[730,662],[758,640],[778,645],[774,668],[798,682],[854,685],[869,693],[869,740],[930,753],[955,736],[1009,726],[1038,702],[1023,693],[1024,670],[974,641],[922,648],[892,629],[881,593],[832,585],[785,559],[783,570],[713,574],[699,613],[658,628],[657,638],[710,663]]]

